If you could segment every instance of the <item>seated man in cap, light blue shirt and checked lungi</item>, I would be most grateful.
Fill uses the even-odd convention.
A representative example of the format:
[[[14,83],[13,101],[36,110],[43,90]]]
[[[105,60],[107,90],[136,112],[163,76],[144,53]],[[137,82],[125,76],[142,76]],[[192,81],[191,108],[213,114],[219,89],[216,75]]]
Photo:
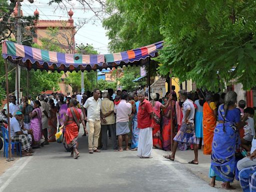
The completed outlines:
[[[10,120],[10,138],[12,142],[20,142],[22,156],[32,155],[29,138],[27,135],[23,133],[21,129],[23,128],[24,125],[22,122],[21,122],[21,126],[19,124],[19,121],[21,120],[22,120],[22,112],[18,110],[14,114],[13,118]],[[28,129],[27,133],[31,134],[32,130]]]

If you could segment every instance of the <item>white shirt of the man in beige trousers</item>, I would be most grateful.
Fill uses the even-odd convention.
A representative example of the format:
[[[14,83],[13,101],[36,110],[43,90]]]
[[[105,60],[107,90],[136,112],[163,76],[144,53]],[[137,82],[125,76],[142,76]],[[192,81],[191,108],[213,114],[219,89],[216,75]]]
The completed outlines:
[[[89,97],[83,107],[87,109],[87,119],[91,121],[100,120],[100,107],[101,99],[94,99],[93,96]]]

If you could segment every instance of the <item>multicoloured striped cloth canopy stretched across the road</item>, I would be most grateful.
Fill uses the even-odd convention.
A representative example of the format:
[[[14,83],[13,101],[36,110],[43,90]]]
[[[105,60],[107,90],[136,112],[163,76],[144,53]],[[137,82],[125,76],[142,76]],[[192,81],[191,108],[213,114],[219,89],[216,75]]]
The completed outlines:
[[[51,71],[90,71],[102,70],[123,65],[142,65],[149,56],[154,57],[163,41],[132,50],[109,54],[67,54],[42,50],[17,44],[11,41],[2,42],[2,56],[12,63],[18,63],[27,69]]]

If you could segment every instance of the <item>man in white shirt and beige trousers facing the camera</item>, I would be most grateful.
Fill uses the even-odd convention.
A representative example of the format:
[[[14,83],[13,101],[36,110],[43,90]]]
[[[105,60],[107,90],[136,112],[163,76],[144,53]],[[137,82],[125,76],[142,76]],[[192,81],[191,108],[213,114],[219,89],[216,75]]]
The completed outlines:
[[[88,133],[88,148],[89,153],[100,152],[98,147],[98,137],[100,133],[100,106],[101,99],[100,91],[98,88],[93,90],[93,96],[89,97],[83,107],[87,110],[87,116],[84,117],[84,120],[88,121],[89,133]]]

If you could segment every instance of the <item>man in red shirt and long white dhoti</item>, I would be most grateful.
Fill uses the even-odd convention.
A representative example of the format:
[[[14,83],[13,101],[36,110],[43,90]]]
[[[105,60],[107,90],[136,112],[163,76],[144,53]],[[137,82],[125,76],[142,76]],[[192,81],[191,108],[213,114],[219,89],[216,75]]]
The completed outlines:
[[[137,155],[140,158],[152,158],[153,107],[151,103],[145,99],[143,91],[138,91],[137,95],[140,101],[137,112],[137,127],[139,128]]]

